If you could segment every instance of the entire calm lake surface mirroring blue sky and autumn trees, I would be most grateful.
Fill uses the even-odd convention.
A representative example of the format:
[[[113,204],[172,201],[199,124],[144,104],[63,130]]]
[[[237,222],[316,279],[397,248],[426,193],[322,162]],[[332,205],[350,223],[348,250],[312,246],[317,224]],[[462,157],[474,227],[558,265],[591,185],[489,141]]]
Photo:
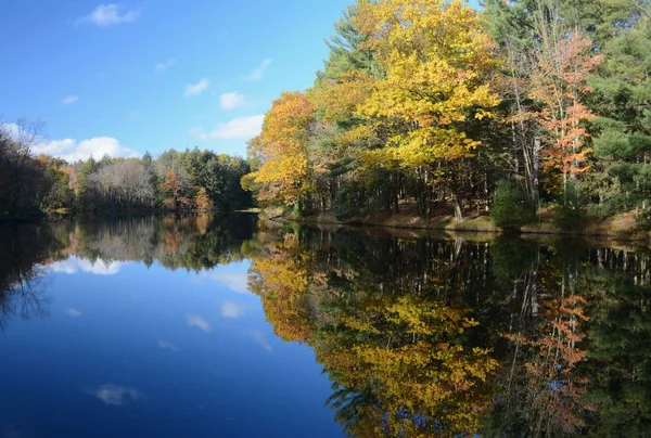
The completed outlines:
[[[651,436],[651,255],[226,219],[0,227],[0,437]]]

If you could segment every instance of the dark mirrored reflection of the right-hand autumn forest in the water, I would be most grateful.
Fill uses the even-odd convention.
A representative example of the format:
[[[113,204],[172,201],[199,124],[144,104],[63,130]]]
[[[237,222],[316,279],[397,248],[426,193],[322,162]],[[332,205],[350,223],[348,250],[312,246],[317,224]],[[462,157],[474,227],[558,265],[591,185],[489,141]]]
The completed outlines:
[[[648,253],[266,227],[245,247],[352,437],[650,431]]]

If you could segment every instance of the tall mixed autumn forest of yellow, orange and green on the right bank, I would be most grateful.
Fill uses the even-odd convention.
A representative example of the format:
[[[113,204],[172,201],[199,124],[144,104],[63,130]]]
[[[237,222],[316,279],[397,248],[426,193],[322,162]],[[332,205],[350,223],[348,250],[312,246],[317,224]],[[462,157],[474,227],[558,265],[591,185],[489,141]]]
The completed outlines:
[[[247,145],[263,207],[651,218],[649,0],[358,0]]]

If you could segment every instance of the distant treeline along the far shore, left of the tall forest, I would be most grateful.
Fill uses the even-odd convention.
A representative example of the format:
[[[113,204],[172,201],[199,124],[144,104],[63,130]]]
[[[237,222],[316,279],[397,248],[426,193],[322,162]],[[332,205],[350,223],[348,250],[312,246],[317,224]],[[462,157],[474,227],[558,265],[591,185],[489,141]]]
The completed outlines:
[[[31,152],[38,127],[18,133],[0,127],[0,215],[48,210],[116,211],[164,208],[228,211],[248,208],[240,179],[250,172],[239,157],[197,149],[153,158],[92,157],[67,163]]]

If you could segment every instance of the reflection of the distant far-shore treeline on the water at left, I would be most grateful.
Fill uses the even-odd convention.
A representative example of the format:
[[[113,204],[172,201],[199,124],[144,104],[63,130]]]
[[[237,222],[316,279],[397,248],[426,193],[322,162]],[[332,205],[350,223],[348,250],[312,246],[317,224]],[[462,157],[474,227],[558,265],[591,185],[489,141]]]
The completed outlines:
[[[255,217],[143,217],[77,219],[0,227],[0,328],[14,317],[46,318],[51,301],[48,267],[68,257],[101,261],[154,261],[200,271],[242,259]]]

